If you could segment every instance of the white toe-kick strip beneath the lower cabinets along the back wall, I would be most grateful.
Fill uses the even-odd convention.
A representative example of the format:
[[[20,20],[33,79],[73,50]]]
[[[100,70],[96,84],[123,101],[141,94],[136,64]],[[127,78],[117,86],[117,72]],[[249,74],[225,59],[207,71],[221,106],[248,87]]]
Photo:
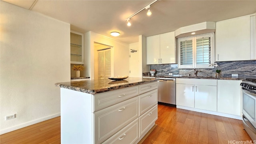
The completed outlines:
[[[225,113],[222,113],[222,112],[213,112],[213,111],[210,111],[210,110],[201,110],[201,109],[198,109],[198,108],[190,108],[190,107],[178,106],[178,105],[176,105],[176,108],[242,120],[242,116],[238,116],[238,115],[234,115],[234,114],[225,114]]]

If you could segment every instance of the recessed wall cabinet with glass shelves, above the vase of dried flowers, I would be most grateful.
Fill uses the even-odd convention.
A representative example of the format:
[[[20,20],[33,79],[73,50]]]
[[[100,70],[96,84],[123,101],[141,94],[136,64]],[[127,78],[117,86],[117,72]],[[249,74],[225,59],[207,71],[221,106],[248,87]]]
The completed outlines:
[[[84,34],[70,30],[70,64],[84,64]]]

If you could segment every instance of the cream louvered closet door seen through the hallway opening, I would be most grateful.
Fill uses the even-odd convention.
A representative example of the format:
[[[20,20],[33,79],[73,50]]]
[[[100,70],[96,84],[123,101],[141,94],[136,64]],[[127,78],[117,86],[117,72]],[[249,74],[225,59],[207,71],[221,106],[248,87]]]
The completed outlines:
[[[109,78],[111,74],[110,48],[98,50],[98,78]]]

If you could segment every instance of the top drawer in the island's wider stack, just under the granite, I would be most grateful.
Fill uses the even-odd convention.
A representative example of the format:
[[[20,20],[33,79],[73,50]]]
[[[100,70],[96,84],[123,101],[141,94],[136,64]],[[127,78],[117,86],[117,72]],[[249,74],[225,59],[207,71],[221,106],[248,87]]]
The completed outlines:
[[[138,86],[130,86],[127,88],[120,88],[118,90],[95,94],[92,98],[92,112],[123,102],[129,98],[138,96],[138,94]]]

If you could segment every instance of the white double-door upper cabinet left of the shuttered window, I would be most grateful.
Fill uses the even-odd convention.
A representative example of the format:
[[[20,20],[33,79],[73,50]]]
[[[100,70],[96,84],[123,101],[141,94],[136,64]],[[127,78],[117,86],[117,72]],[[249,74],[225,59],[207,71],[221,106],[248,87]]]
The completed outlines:
[[[177,63],[175,32],[148,36],[146,47],[147,64]]]

